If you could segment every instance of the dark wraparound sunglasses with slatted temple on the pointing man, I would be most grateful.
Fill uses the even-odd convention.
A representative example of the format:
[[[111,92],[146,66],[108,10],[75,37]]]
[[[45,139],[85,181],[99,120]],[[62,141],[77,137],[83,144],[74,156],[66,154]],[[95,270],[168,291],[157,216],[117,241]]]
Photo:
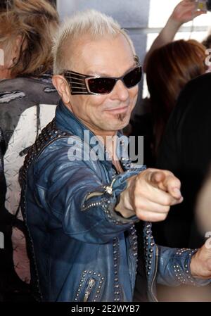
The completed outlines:
[[[82,73],[65,70],[65,79],[70,84],[71,94],[110,94],[118,80],[121,80],[127,89],[135,87],[141,81],[141,65],[136,65],[122,77],[100,77],[82,75]]]

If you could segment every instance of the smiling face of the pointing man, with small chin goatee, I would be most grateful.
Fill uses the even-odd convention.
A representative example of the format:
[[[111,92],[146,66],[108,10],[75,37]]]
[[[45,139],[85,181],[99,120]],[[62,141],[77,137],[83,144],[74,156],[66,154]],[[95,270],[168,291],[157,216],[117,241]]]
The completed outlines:
[[[120,77],[135,66],[132,49],[122,34],[95,41],[82,37],[71,64],[70,70],[75,72],[104,77]],[[137,85],[127,89],[118,80],[110,94],[71,95],[68,107],[95,134],[114,134],[128,124],[137,94]]]

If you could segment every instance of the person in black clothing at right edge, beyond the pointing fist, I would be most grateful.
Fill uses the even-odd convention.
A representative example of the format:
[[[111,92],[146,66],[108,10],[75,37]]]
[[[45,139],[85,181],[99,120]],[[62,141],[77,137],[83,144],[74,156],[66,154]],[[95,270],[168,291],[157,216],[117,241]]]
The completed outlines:
[[[211,74],[206,73],[186,84],[167,123],[158,153],[158,168],[170,170],[181,179],[184,196],[181,206],[173,206],[167,220],[156,224],[154,229],[155,239],[165,246],[184,244],[198,248],[205,242],[195,209],[200,188],[210,174],[210,83]],[[191,296],[193,291],[199,301],[210,301],[210,286],[206,293],[188,289]],[[179,293],[184,292],[179,289]],[[173,289],[172,294],[178,295]]]

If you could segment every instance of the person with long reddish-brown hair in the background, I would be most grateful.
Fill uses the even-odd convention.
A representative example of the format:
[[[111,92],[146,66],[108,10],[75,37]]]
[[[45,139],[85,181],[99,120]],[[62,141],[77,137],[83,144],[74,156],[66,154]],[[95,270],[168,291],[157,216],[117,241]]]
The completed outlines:
[[[167,120],[181,89],[191,79],[203,75],[205,46],[195,40],[174,41],[155,49],[148,57],[146,80],[151,112],[136,115],[131,121],[132,135],[144,137],[144,163],[155,166]],[[156,65],[156,71],[155,71]]]

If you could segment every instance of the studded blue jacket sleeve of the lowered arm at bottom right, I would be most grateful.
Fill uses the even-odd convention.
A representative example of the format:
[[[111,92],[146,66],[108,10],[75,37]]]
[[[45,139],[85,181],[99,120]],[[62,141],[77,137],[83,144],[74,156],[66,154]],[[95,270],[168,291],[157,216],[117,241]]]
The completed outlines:
[[[167,286],[181,284],[205,286],[211,279],[198,279],[191,275],[191,258],[197,249],[168,248],[158,246],[157,282]]]

